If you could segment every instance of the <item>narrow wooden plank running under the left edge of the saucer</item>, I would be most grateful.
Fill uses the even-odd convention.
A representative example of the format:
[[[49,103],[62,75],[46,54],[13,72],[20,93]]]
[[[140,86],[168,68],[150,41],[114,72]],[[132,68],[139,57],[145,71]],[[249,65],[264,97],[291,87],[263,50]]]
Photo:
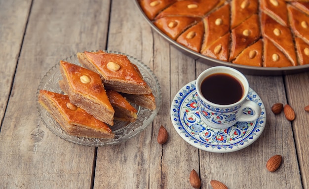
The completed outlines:
[[[159,42],[159,41],[158,41]],[[162,42],[159,42],[160,45]],[[170,105],[178,91],[187,83],[195,79],[195,62],[178,51],[170,48],[170,99],[168,115],[170,117]],[[168,99],[166,99],[167,102]],[[170,141],[164,146],[162,159],[162,188],[191,188],[189,182],[190,172],[194,169],[199,173],[199,150],[184,141],[170,124]]]

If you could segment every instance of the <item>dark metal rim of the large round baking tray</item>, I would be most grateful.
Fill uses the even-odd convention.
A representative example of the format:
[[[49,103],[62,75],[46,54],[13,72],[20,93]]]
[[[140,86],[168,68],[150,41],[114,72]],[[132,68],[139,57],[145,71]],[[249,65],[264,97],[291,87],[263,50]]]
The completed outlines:
[[[197,53],[179,43],[177,43],[175,40],[169,38],[167,35],[165,35],[161,30],[156,28],[154,23],[149,20],[149,18],[146,16],[144,11],[142,10],[138,0],[134,0],[135,4],[137,5],[138,9],[140,10],[141,14],[145,18],[145,20],[148,22],[148,24],[154,29],[155,32],[157,32],[160,36],[165,38],[170,44],[174,45],[178,50],[183,52],[184,54],[192,57],[193,59],[203,62],[210,66],[229,66],[232,68],[235,68],[242,72],[243,74],[248,75],[256,75],[256,76],[282,76],[282,75],[290,75],[290,74],[299,74],[303,72],[309,72],[309,64],[302,65],[302,66],[293,66],[293,67],[282,67],[282,68],[269,68],[269,67],[256,67],[256,66],[244,66],[244,65],[238,65],[238,64],[232,64],[230,62],[221,61],[218,59],[210,58],[207,56],[204,56],[200,53]]]

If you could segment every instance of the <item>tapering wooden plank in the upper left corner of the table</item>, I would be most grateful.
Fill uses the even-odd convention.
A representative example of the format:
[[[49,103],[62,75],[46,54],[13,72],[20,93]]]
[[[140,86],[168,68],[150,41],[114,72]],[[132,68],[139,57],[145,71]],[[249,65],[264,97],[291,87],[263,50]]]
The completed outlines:
[[[9,99],[30,6],[31,0],[0,0],[1,120]]]

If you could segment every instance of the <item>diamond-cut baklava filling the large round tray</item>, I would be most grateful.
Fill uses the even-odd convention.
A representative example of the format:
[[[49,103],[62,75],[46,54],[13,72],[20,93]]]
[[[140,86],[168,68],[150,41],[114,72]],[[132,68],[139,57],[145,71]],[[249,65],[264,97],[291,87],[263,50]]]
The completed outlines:
[[[204,56],[257,67],[309,64],[309,53],[302,49],[309,44],[309,0],[139,2],[162,33]],[[155,9],[151,16],[150,7]],[[272,62],[266,50],[282,55],[284,61]],[[250,51],[254,58],[248,59]]]

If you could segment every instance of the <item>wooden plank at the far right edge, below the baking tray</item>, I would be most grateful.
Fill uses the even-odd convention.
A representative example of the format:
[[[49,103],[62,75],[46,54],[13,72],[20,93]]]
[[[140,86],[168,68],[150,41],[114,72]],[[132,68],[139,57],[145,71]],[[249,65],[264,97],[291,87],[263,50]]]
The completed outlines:
[[[288,103],[296,114],[292,125],[303,187],[309,189],[309,113],[304,110],[309,105],[309,73],[288,75],[285,81]]]

